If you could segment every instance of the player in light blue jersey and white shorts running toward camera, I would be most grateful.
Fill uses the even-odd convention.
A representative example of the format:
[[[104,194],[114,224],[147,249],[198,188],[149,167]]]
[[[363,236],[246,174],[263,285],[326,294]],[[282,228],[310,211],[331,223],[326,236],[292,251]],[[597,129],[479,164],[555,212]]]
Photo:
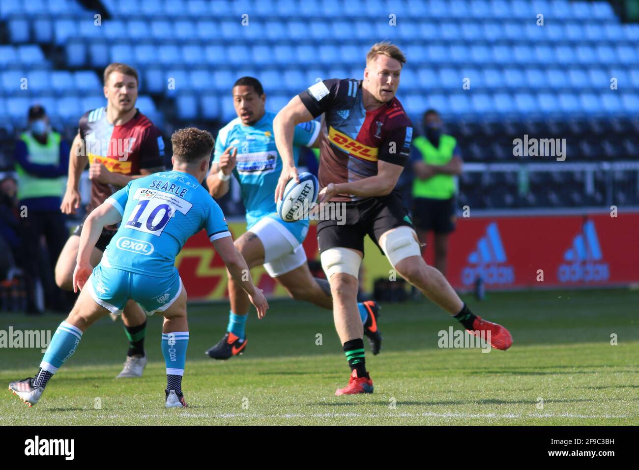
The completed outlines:
[[[326,279],[313,278],[306,262],[302,242],[309,221],[286,223],[277,215],[273,192],[282,171],[282,160],[273,138],[275,113],[265,109],[266,95],[258,79],[242,77],[233,85],[233,104],[238,117],[222,127],[215,143],[211,171],[206,178],[213,198],[229,191],[231,174],[240,184],[246,208],[247,232],[235,240],[235,246],[250,268],[264,265],[293,297],[326,309],[333,308],[330,285]],[[319,122],[309,121],[295,127],[293,156],[297,162],[302,146],[318,146]],[[247,345],[245,324],[249,299],[242,286],[229,276],[231,312],[222,340],[206,351],[213,359],[228,359],[243,354]],[[373,354],[381,348],[377,327],[379,309],[375,302],[358,304],[364,334]]]

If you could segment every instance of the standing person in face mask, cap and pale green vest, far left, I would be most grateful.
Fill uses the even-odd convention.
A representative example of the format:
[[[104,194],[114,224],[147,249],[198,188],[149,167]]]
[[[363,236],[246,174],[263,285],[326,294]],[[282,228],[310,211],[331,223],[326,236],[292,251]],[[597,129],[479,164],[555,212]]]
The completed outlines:
[[[65,308],[66,295],[54,283],[54,267],[68,237],[65,215],[59,208],[65,192],[70,146],[50,129],[42,106],[29,108],[29,130],[15,145],[14,163],[18,175],[20,223],[29,253],[27,274],[40,279],[45,305]],[[43,249],[42,241],[46,249]],[[48,255],[45,257],[45,253]]]

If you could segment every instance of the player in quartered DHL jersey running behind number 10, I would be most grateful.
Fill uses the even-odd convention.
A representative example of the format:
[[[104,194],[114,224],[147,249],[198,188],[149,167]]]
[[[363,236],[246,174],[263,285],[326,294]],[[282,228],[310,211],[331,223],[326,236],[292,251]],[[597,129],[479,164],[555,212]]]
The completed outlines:
[[[164,171],[164,141],[160,130],[135,108],[138,78],[134,68],[112,63],[104,70],[104,97],[107,106],[84,113],[69,157],[66,193],[61,210],[75,214],[80,207],[79,183],[89,164],[91,201],[87,215],[130,180]],[[79,224],[66,241],[56,263],[56,284],[73,290],[73,269],[83,224]],[[91,265],[95,267],[116,233],[116,226],[105,227],[93,249]],[[122,321],[129,340],[127,361],[118,377],[141,377],[146,365],[144,336],[146,314],[134,301],[124,309]]]

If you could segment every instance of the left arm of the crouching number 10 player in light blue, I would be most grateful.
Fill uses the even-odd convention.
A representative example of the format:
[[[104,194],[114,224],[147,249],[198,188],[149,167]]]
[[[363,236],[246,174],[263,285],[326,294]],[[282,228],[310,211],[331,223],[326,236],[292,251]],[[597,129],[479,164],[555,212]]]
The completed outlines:
[[[117,224],[122,220],[122,215],[118,209],[110,203],[105,202],[89,214],[84,221],[84,228],[80,235],[80,247],[76,259],[75,270],[73,271],[73,292],[82,290],[86,280],[91,276],[93,267],[91,266],[91,253],[95,244],[100,238],[102,229],[107,225]]]

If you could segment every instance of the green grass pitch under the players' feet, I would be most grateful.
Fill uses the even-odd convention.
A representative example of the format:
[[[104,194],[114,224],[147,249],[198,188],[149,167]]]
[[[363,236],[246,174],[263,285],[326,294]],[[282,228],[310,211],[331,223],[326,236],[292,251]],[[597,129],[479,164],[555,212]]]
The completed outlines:
[[[246,354],[204,351],[226,328],[227,304],[189,308],[183,390],[188,409],[164,409],[160,318],[148,322],[141,379],[114,377],[127,342],[108,317],[27,408],[6,390],[33,376],[39,349],[0,349],[1,425],[630,425],[639,417],[639,292],[490,294],[470,308],[508,327],[508,351],[440,349],[438,331],[461,326],[427,301],[382,304],[383,349],[367,350],[372,395],[334,396],[349,369],[332,315],[303,302],[251,313]],[[50,329],[63,316],[0,315],[0,329]],[[321,334],[321,345],[316,342]],[[617,345],[611,345],[611,335]],[[366,342],[366,341],[365,341]],[[543,400],[543,401],[542,401]],[[542,407],[543,404],[543,407]]]

